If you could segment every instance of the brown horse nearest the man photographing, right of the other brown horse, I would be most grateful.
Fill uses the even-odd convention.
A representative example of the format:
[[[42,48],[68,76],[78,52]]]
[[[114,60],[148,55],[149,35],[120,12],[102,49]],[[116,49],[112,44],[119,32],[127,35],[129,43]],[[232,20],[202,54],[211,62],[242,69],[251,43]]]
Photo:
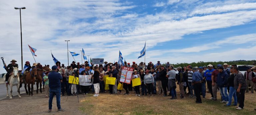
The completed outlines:
[[[44,66],[42,69],[37,68],[37,81],[36,81],[36,93],[38,93],[38,87],[40,83],[40,93],[42,93],[42,81],[43,81],[43,73],[46,71],[51,71],[51,69],[47,66]]]

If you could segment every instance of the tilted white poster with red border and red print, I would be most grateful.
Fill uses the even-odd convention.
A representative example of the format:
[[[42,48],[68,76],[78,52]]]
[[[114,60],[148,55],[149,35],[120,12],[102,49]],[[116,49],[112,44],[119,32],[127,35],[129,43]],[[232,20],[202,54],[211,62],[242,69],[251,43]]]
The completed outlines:
[[[132,67],[123,67],[120,82],[131,84],[132,73]]]

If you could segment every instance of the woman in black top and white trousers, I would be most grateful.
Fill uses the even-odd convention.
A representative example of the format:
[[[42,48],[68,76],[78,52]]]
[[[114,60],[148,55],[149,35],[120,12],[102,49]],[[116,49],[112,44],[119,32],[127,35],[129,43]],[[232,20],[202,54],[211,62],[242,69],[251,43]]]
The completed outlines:
[[[95,94],[94,97],[99,96],[100,92],[100,71],[97,66],[94,66],[94,74],[93,74],[93,86]]]

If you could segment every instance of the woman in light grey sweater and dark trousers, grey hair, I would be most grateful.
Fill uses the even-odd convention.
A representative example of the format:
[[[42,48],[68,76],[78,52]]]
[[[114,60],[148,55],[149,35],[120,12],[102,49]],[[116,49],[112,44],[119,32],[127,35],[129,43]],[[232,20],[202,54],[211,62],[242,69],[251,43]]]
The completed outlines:
[[[148,96],[151,96],[151,92],[153,93],[154,77],[149,73],[149,70],[146,70],[146,75],[144,76],[144,84],[147,86],[149,94]]]

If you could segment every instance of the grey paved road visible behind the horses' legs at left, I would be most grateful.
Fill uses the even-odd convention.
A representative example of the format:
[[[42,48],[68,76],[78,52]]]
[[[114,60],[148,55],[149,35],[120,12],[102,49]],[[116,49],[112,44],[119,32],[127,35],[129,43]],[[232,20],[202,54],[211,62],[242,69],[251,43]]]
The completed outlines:
[[[36,89],[36,85],[34,85],[34,90]],[[40,90],[40,89],[39,89]],[[42,89],[43,90],[43,89]],[[9,87],[9,94],[10,94],[10,87]],[[39,91],[40,92],[40,91]],[[24,88],[24,84],[22,84],[22,87],[20,88],[20,93],[26,93],[26,90]],[[33,91],[34,94],[36,94],[35,91]],[[13,96],[16,96],[18,95],[18,92],[17,92],[17,87],[16,86],[13,86],[12,87],[12,95]],[[0,100],[3,100],[3,99],[6,99],[6,87],[5,87],[5,84],[0,84]]]

